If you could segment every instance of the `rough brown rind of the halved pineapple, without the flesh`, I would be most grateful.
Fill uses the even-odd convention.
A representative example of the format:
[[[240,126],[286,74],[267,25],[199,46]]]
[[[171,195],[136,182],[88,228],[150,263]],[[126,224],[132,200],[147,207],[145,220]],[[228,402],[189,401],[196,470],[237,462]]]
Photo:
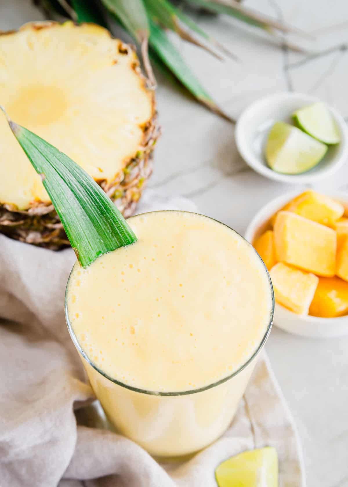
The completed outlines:
[[[62,25],[57,22],[33,22],[25,24],[19,30],[19,33],[23,30],[35,33],[42,29],[57,28],[57,26],[74,29],[74,32],[82,28],[82,26],[75,26],[72,22],[66,22]],[[96,31],[101,32],[103,36],[107,34],[110,37],[109,33],[99,26],[88,24],[85,28],[89,29],[92,34]],[[15,33],[3,33],[0,35],[0,40],[1,36],[6,35],[9,35],[9,37],[16,36]],[[109,42],[111,42],[111,37]],[[130,46],[121,43],[121,41],[117,42],[119,42],[120,55],[132,56],[132,68],[144,89],[148,92],[146,78],[141,73],[135,52]],[[88,75],[88,69],[86,70],[86,75]],[[142,190],[152,174],[153,149],[160,134],[160,129],[156,122],[155,96],[153,93],[150,93],[149,96],[152,99],[152,114],[150,120],[141,126],[142,140],[137,150],[123,162],[116,161],[115,175],[113,177],[109,175],[109,178],[103,178],[101,176],[98,179],[94,176],[97,184],[102,187],[126,218],[134,214]],[[30,165],[29,161],[28,164]],[[30,167],[29,169],[33,168]],[[37,176],[39,177],[39,175]],[[15,204],[0,201],[0,232],[21,242],[53,250],[70,245],[53,205],[47,198],[42,198],[42,200],[37,197],[33,198],[27,208],[20,208]]]

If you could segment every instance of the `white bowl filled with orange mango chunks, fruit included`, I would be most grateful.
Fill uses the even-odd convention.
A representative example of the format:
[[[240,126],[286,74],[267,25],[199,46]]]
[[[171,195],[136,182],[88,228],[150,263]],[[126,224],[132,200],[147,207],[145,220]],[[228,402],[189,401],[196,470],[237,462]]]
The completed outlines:
[[[348,194],[283,195],[245,237],[269,270],[276,326],[304,337],[348,334]]]

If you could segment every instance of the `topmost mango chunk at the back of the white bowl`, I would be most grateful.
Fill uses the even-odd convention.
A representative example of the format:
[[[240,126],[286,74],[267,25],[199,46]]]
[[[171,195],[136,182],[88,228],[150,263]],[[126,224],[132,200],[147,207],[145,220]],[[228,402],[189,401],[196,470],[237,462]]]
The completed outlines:
[[[309,189],[290,201],[283,210],[291,211],[313,222],[331,226],[342,217],[345,208],[329,196]]]

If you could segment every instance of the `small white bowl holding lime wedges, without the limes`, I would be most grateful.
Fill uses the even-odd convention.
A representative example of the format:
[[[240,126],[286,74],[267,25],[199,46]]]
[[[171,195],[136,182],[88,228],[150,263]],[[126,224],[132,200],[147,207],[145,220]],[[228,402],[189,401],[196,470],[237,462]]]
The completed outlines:
[[[283,183],[313,183],[333,174],[348,158],[348,129],[342,116],[327,105],[341,135],[341,141],[329,146],[317,166],[302,174],[282,174],[267,166],[264,146],[271,126],[277,121],[292,123],[293,112],[318,98],[302,93],[279,93],[252,103],[240,115],[235,127],[237,149],[245,162],[263,176]]]

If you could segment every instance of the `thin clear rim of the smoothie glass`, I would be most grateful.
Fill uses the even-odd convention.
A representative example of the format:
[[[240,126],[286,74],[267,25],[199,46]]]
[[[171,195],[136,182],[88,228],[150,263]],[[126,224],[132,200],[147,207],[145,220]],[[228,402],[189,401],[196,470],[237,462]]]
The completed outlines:
[[[119,380],[116,380],[115,378],[111,377],[110,375],[108,375],[105,372],[103,372],[102,370],[100,370],[97,367],[97,365],[94,364],[89,359],[89,357],[86,355],[86,353],[83,351],[83,349],[81,348],[80,344],[78,343],[77,337],[76,337],[76,335],[74,333],[74,330],[73,330],[73,328],[71,326],[71,323],[69,321],[68,305],[67,305],[67,294],[68,294],[68,286],[69,286],[70,277],[71,277],[71,274],[73,272],[73,269],[74,269],[75,264],[73,265],[73,268],[70,271],[69,278],[68,278],[68,281],[67,281],[67,284],[66,284],[66,288],[65,288],[65,297],[64,297],[65,321],[66,321],[66,324],[67,324],[67,327],[68,327],[68,331],[69,331],[70,337],[73,340],[73,343],[74,343],[74,345],[75,345],[75,347],[77,349],[77,352],[89,363],[89,365],[91,365],[91,367],[93,369],[95,369],[100,375],[102,375],[106,379],[110,380],[114,384],[117,384],[120,387],[124,387],[124,388],[129,389],[130,391],[133,391],[133,392],[136,392],[136,393],[149,394],[149,395],[155,395],[155,396],[181,396],[181,395],[188,395],[188,394],[200,393],[200,392],[203,392],[203,391],[207,391],[208,389],[212,389],[213,387],[216,387],[216,386],[218,386],[220,384],[223,384],[224,382],[227,382],[228,380],[230,380],[235,375],[237,375],[240,372],[242,372],[252,362],[252,360],[259,354],[259,352],[263,348],[264,344],[267,341],[267,338],[269,337],[269,335],[271,333],[271,328],[272,328],[272,323],[273,323],[273,317],[274,317],[274,291],[273,291],[273,286],[272,286],[272,282],[271,282],[271,276],[270,276],[270,274],[268,272],[268,269],[267,269],[265,263],[263,262],[263,260],[259,256],[259,254],[256,252],[256,250],[254,249],[254,247],[251,245],[251,243],[248,242],[242,235],[240,235],[240,233],[238,233],[235,230],[233,230],[233,228],[231,228],[229,225],[226,225],[225,223],[222,223],[219,220],[216,220],[215,218],[211,218],[209,216],[202,215],[201,213],[196,213],[194,211],[185,211],[185,210],[157,210],[157,211],[147,211],[145,213],[138,213],[137,215],[134,215],[133,217],[130,217],[130,218],[134,218],[134,217],[140,216],[140,215],[147,215],[147,214],[150,214],[150,213],[161,213],[161,212],[192,213],[193,215],[198,215],[198,216],[202,216],[204,218],[209,218],[210,220],[213,220],[214,222],[217,222],[217,223],[219,223],[221,225],[227,226],[227,228],[229,228],[230,230],[232,230],[232,232],[234,232],[237,235],[239,235],[245,242],[247,242],[247,244],[249,244],[251,246],[252,250],[255,252],[255,254],[257,255],[258,259],[261,261],[261,263],[262,263],[262,265],[263,265],[263,267],[264,267],[264,269],[266,271],[266,275],[268,277],[268,281],[269,281],[270,287],[271,287],[271,314],[270,314],[269,323],[268,323],[267,328],[266,328],[266,332],[265,332],[264,336],[262,337],[261,342],[259,343],[258,347],[251,354],[251,356],[248,358],[248,360],[245,363],[243,363],[237,370],[235,370],[234,372],[232,372],[232,374],[229,374],[226,377],[222,377],[221,379],[219,379],[219,380],[217,380],[215,382],[212,382],[211,384],[208,384],[206,386],[199,387],[197,389],[189,389],[189,390],[186,390],[186,391],[176,391],[176,392],[150,391],[150,390],[146,390],[146,389],[141,389],[141,388],[138,388],[138,387],[130,386],[129,384],[125,384],[124,382],[121,382]],[[98,256],[98,257],[101,257],[101,256]]]

